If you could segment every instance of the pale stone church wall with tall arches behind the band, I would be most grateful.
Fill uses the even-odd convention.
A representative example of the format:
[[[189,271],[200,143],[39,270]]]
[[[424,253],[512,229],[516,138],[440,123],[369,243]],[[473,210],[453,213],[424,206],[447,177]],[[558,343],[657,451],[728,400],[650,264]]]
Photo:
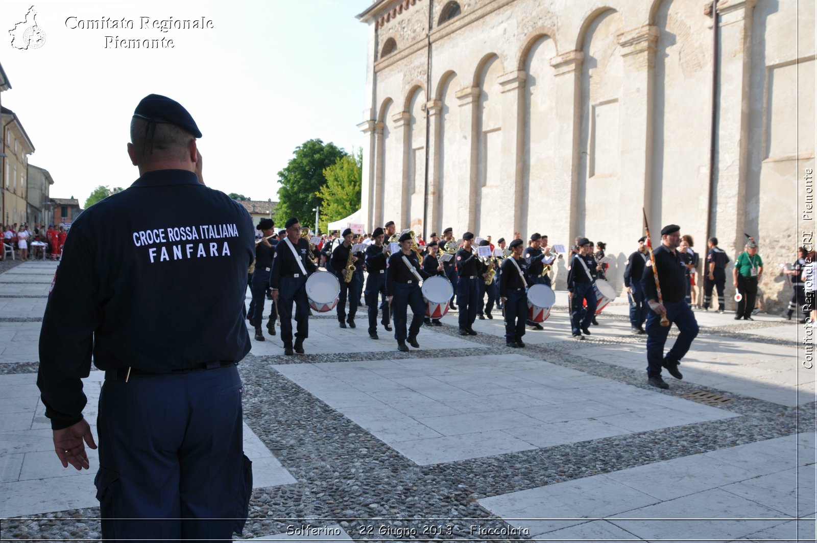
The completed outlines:
[[[814,231],[798,219],[815,167],[814,2],[376,0],[358,18],[368,231],[587,236],[623,289],[644,208],[704,257],[708,236],[733,259],[756,237],[764,301],[784,306],[779,265]]]

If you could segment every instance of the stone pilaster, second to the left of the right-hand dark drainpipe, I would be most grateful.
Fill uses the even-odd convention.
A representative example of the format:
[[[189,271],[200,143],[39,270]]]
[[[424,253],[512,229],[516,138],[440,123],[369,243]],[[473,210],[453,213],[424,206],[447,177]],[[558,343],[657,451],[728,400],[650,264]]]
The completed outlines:
[[[556,185],[564,186],[561,197],[552,202],[551,215],[553,220],[547,222],[550,228],[548,241],[551,244],[565,244],[569,251],[577,231],[576,193],[578,191],[578,164],[579,141],[582,130],[581,111],[582,101],[581,77],[584,53],[569,51],[551,59],[553,75],[556,78],[553,91],[556,93],[556,119],[553,130],[556,132],[556,145],[564,151],[554,153],[553,179]],[[569,149],[569,150],[568,150]],[[529,236],[533,232],[523,233]],[[562,258],[556,263],[554,288],[564,289],[567,280],[567,263]]]

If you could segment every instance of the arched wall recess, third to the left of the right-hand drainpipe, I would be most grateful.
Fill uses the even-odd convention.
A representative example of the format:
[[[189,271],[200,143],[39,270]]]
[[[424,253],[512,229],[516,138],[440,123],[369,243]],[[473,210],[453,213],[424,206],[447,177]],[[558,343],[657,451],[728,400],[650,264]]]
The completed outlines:
[[[525,47],[521,70],[527,74],[524,92],[525,123],[522,126],[522,209],[520,225],[527,236],[542,231],[547,222],[569,221],[569,213],[552,209],[548,204],[554,200],[555,191],[565,191],[556,186],[559,180],[552,176],[556,161],[556,95],[551,68],[551,58],[556,56],[556,44],[547,35],[540,35]]]

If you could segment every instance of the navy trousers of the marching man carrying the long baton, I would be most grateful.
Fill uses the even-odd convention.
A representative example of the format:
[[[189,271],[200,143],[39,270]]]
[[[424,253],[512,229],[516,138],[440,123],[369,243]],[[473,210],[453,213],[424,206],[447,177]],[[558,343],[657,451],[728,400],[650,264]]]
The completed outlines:
[[[680,361],[687,351],[690,350],[692,340],[698,335],[698,322],[692,308],[686,302],[664,302],[667,308],[667,319],[669,326],[661,325],[661,316],[650,310],[647,313],[647,376],[654,377],[661,375],[663,365],[663,347],[667,343],[667,335],[672,328],[672,324],[678,327],[678,339],[667,352],[667,357]]]

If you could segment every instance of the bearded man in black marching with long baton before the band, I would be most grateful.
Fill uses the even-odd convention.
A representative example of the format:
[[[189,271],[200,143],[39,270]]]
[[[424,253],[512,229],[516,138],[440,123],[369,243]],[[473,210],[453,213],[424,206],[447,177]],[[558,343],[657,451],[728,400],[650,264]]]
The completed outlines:
[[[686,275],[681,267],[678,246],[681,245],[681,227],[670,224],[661,229],[661,246],[654,249],[654,263],[650,261],[644,267],[641,276],[641,289],[644,298],[652,311],[647,313],[647,382],[654,387],[669,388],[661,378],[661,368],[666,368],[669,375],[683,379],[678,370],[681,358],[690,350],[692,340],[698,335],[698,322],[692,313],[692,307],[686,303]],[[655,285],[655,273],[658,271],[662,300],[659,301],[658,286]],[[669,325],[661,325],[661,316],[666,315]],[[675,344],[663,354],[664,343],[672,323],[678,327],[678,338]]]

